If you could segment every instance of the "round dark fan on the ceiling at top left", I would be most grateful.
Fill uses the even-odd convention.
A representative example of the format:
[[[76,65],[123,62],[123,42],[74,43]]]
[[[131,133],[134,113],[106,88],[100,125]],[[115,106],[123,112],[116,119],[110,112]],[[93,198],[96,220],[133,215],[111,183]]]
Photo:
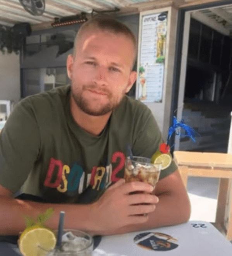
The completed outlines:
[[[19,0],[23,8],[34,16],[41,16],[45,11],[45,0]]]

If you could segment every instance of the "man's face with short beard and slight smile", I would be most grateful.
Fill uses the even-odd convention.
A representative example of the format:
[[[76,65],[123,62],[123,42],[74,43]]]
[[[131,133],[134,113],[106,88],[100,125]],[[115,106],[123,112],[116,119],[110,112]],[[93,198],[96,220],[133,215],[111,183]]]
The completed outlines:
[[[84,31],[76,44],[76,56],[67,59],[77,106],[93,116],[111,112],[136,80],[136,72],[131,71],[133,58],[133,43],[125,35]]]

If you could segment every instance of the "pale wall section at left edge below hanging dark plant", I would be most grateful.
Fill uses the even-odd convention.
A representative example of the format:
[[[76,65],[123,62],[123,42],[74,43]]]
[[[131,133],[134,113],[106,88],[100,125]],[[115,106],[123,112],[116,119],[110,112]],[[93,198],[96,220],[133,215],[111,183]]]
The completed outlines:
[[[20,100],[19,55],[0,52],[0,100]]]

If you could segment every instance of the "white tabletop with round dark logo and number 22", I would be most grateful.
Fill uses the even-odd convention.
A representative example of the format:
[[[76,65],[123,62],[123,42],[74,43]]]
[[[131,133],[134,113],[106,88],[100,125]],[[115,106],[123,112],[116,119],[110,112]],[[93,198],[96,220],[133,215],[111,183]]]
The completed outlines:
[[[138,234],[148,233],[147,239],[140,236],[140,243],[150,247],[168,249],[170,243],[175,249],[169,251],[155,251],[138,246],[134,237]],[[149,234],[150,233],[150,234]],[[162,236],[167,234],[174,239],[167,240]],[[154,235],[158,238],[155,239]],[[166,241],[163,241],[166,240]],[[154,242],[156,240],[156,242]],[[157,241],[159,241],[157,243]],[[169,242],[169,243],[168,243]],[[205,221],[189,221],[181,225],[155,228],[146,231],[132,232],[124,235],[103,237],[93,256],[232,256],[232,244],[211,224]]]

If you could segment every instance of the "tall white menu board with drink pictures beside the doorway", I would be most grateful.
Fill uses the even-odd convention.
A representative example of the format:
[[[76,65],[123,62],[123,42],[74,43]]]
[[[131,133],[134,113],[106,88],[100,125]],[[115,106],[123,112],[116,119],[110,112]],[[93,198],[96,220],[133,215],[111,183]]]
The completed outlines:
[[[162,102],[167,14],[148,14],[141,19],[136,98],[142,102]]]

